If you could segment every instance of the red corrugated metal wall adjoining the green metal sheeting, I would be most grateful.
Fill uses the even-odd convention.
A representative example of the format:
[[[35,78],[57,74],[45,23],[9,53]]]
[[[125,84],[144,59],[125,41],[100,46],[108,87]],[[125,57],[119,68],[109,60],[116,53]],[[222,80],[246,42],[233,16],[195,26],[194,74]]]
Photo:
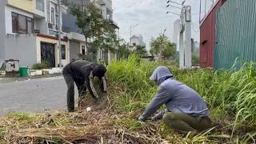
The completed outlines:
[[[200,23],[200,66],[213,67],[215,43],[215,14],[226,0],[219,0]]]

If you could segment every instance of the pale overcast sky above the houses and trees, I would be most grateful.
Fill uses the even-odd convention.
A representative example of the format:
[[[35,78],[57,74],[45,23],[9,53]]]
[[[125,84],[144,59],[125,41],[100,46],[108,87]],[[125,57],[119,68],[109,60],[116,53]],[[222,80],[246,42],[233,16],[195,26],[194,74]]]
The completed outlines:
[[[182,0],[172,0],[181,3]],[[212,0],[206,0],[206,12],[210,9]],[[166,14],[166,11],[180,13],[177,8],[166,8],[167,0],[113,0],[114,21],[118,22],[120,35],[129,42],[130,26],[134,27],[132,34],[142,34],[147,49],[150,39],[157,37],[166,28],[166,35],[172,41],[174,21],[178,15]],[[175,5],[174,3],[172,4]],[[199,39],[199,8],[200,0],[186,0],[185,5],[192,6],[192,38]],[[205,14],[205,0],[202,0],[202,17]]]

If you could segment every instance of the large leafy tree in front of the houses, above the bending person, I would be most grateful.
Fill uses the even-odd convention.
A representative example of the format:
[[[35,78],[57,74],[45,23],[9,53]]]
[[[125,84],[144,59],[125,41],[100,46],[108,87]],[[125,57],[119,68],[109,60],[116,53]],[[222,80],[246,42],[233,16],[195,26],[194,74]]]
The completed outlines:
[[[86,38],[87,54],[90,54],[90,50],[114,50],[114,46],[118,43],[114,27],[102,18],[94,2],[87,2],[84,5],[70,3],[69,8],[70,14],[77,18],[76,24]],[[88,42],[89,38],[90,42]]]

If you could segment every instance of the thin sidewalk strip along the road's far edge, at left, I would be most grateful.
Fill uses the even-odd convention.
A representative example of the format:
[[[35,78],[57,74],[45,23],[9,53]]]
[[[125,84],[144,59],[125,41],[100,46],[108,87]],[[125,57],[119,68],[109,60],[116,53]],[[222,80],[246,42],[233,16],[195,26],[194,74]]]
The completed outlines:
[[[6,77],[0,76],[0,83],[26,81],[28,79],[37,79],[37,78],[50,78],[50,77],[56,77],[61,75],[62,74],[45,74],[45,75],[30,76],[26,78],[6,78]]]

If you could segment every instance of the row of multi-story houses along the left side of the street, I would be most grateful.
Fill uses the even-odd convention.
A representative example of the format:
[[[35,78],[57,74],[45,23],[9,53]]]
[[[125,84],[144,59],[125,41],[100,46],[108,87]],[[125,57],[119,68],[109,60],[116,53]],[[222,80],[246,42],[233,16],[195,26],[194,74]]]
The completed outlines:
[[[0,1],[0,62],[19,60],[20,66],[32,66],[42,61],[52,67],[62,66],[86,54],[85,37],[76,26],[76,18],[68,13],[65,2],[83,4],[90,0],[62,0],[58,14],[58,0],[1,0]],[[111,0],[97,0],[111,26],[118,31],[113,21]],[[60,18],[60,26],[58,26]],[[58,49],[58,30],[61,30],[61,46]],[[60,53],[61,52],[61,53]],[[114,54],[98,50],[95,57],[110,62]]]

